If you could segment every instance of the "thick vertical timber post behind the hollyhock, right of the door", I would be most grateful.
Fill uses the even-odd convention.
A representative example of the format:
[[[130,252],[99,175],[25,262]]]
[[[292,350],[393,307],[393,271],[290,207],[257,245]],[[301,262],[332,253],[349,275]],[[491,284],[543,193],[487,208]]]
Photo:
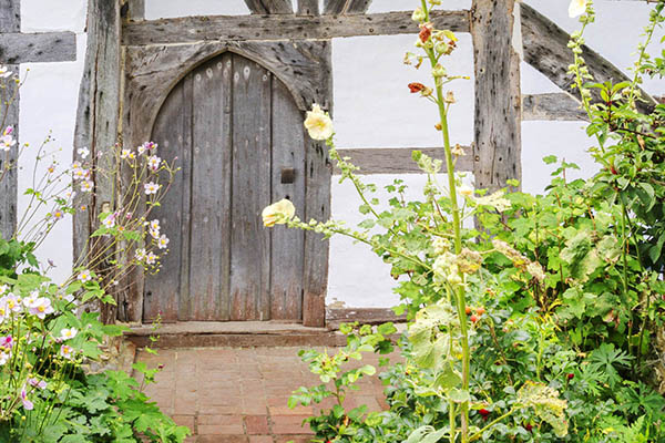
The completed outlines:
[[[473,176],[497,189],[522,178],[520,59],[513,49],[514,0],[474,0],[471,37],[475,111]]]

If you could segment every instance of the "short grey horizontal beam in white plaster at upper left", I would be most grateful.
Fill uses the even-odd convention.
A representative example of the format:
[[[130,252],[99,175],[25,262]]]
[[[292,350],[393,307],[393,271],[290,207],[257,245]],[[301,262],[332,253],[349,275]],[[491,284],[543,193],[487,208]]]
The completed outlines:
[[[76,60],[73,32],[0,33],[0,62],[8,64]]]

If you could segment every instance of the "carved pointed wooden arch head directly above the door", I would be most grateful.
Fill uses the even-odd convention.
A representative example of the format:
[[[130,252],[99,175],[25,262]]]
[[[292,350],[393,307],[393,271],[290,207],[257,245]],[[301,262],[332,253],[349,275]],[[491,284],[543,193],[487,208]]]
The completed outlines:
[[[125,87],[125,143],[150,138],[168,93],[188,72],[224,52],[262,65],[279,79],[299,110],[329,107],[330,43],[327,41],[215,41],[183,45],[129,47]],[[127,131],[129,130],[129,131]]]

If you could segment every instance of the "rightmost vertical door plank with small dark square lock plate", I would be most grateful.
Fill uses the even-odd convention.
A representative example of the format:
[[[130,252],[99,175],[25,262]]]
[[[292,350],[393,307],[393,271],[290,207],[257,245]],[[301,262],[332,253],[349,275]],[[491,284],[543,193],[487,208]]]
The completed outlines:
[[[305,134],[303,114],[284,83],[273,79],[273,202],[288,198],[305,216]],[[293,168],[293,183],[282,183]],[[270,256],[272,319],[301,320],[305,233],[275,226]]]

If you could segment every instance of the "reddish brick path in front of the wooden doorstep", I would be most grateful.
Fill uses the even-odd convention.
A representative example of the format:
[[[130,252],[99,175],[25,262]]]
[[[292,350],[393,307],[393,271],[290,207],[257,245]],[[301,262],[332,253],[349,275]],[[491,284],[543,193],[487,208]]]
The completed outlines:
[[[156,383],[146,389],[164,412],[200,443],[296,443],[311,434],[301,422],[321,406],[286,405],[300,385],[320,383],[298,357],[299,348],[195,348],[162,349],[158,356],[137,352],[149,368],[163,364]],[[332,352],[334,350],[330,350]],[[358,364],[378,363],[367,356]],[[379,369],[379,368],[377,368]],[[349,394],[346,406],[385,406],[380,381],[367,378]],[[329,405],[326,404],[326,405]]]

